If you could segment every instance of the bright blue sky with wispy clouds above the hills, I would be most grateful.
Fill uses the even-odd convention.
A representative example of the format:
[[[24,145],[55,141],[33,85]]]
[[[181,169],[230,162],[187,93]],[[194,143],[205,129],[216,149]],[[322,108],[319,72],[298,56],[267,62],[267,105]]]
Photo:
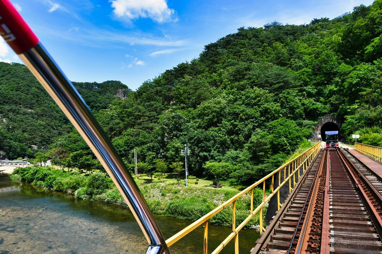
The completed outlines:
[[[145,80],[239,27],[335,18],[373,0],[11,0],[68,78]],[[21,63],[0,42],[0,61]]]

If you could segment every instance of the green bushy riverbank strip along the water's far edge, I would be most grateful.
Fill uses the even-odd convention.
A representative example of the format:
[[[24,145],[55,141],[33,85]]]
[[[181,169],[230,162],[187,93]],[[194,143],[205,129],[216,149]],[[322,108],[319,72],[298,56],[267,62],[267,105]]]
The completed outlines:
[[[11,175],[13,180],[26,182],[47,190],[61,191],[77,198],[86,200],[98,200],[111,204],[126,206],[119,191],[115,188],[111,179],[101,172],[84,176],[78,171],[63,172],[61,170],[29,167],[16,169]],[[151,183],[150,181],[137,181],[150,209],[156,213],[178,219],[196,220],[208,213],[219,204],[228,200],[239,191],[230,189],[214,189],[211,187],[188,188],[176,183]],[[236,202],[236,223],[241,223],[250,213],[250,196],[244,195]],[[254,191],[254,206],[262,200],[262,191]],[[265,213],[264,213],[265,214]],[[248,224],[259,224],[259,216],[255,216]],[[232,225],[232,207],[210,219],[214,225]]]

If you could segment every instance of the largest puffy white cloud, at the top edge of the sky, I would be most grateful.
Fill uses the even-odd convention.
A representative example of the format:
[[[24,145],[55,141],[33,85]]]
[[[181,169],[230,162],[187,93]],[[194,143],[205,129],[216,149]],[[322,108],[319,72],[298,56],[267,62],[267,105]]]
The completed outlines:
[[[166,0],[109,0],[114,13],[118,17],[129,20],[137,18],[151,18],[163,23],[178,21],[176,11],[168,7]]]

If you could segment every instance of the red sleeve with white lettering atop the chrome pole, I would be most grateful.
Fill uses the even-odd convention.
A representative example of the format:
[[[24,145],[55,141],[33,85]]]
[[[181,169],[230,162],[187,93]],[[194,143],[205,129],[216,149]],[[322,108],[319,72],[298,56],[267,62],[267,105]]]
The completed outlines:
[[[16,54],[30,50],[37,36],[9,0],[0,0],[0,35]]]

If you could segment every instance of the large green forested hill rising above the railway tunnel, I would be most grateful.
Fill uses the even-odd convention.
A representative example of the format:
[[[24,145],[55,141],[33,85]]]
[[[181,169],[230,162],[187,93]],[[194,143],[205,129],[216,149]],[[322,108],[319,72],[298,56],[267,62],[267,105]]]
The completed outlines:
[[[250,183],[283,163],[325,114],[344,120],[346,138],[360,133],[382,146],[381,57],[382,0],[333,20],[239,28],[96,117],[127,163],[137,150],[141,171],[183,161],[187,144],[191,174],[224,168]],[[52,147],[67,165],[87,167],[92,155],[76,135]]]

